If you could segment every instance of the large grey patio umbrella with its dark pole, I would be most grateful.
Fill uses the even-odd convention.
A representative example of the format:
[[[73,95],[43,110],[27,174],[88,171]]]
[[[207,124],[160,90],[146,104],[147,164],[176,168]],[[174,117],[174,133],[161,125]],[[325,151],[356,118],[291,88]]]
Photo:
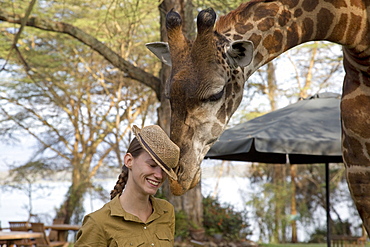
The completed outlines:
[[[322,93],[223,132],[205,158],[272,164],[326,164],[327,243],[329,163],[342,163],[340,95]]]

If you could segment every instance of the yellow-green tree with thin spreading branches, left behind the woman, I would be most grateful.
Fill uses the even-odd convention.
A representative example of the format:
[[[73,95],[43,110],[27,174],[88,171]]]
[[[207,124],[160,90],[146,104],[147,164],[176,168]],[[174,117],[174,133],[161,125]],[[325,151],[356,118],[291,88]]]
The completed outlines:
[[[39,146],[30,162],[43,164],[38,166],[40,172],[52,167],[54,171],[72,174],[71,186],[57,217],[63,217],[66,223],[71,220],[80,223],[84,194],[94,188],[92,179],[109,167],[118,168],[118,174],[123,165],[122,155],[130,139],[129,127],[135,122],[155,121],[148,113],[155,110],[156,91],[135,81],[151,85],[159,80],[132,65],[143,64],[144,68],[157,70],[154,65],[149,66],[152,59],[146,55],[143,41],[141,45],[136,42],[150,30],[149,24],[153,24],[152,20],[145,22],[142,17],[155,18],[155,14],[149,3],[143,1],[136,5],[122,1],[115,6],[111,1],[89,1],[87,5],[75,1],[32,5],[34,2],[28,10],[22,1],[7,2],[2,11],[10,12],[1,12],[3,20],[24,25],[19,29],[14,24],[3,22],[1,25],[0,38],[4,44],[1,131],[11,138],[28,134],[28,138],[37,141]],[[144,12],[137,12],[138,8],[144,8]],[[30,9],[33,15],[22,22],[24,19],[18,14]],[[33,16],[42,16],[42,19]],[[53,21],[43,19],[45,17]],[[54,21],[56,19],[82,26],[106,45],[70,24]],[[102,53],[113,52],[109,45],[117,51],[111,60],[119,57],[116,63],[120,63],[127,59],[136,71],[115,68],[76,39],[26,28],[26,25],[73,33],[91,46],[99,47]],[[139,33],[139,27],[144,31]]]

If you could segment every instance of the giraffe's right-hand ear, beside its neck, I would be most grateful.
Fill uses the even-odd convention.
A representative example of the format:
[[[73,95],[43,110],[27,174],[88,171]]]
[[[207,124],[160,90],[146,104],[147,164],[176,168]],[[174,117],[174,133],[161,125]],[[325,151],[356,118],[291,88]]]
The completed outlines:
[[[253,43],[249,40],[238,40],[231,43],[226,55],[232,66],[245,67],[252,62]]]

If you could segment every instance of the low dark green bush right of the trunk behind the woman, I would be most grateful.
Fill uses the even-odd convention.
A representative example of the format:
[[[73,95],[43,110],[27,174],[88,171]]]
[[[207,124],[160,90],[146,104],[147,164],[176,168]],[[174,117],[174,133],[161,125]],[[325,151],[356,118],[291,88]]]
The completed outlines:
[[[245,212],[237,212],[229,204],[221,205],[210,196],[203,198],[203,220],[210,236],[221,233],[226,240],[237,240],[251,234]]]

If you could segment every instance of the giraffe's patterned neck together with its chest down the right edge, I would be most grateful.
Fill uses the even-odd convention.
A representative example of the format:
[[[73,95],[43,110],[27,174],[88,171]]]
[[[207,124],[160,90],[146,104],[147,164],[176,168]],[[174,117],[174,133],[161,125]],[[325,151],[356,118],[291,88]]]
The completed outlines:
[[[343,46],[342,150],[356,207],[370,233],[370,2],[368,0],[252,0],[221,17],[216,31],[250,40],[255,51],[245,78],[288,49],[326,40]]]

